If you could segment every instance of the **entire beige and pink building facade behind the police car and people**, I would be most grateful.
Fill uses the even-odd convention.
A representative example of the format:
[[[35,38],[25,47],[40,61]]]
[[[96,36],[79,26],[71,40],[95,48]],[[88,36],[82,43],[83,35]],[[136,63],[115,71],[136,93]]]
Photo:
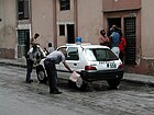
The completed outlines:
[[[154,74],[153,0],[0,0],[0,58],[23,58],[30,37],[42,47],[98,43],[99,31],[112,24],[127,38],[125,71]]]

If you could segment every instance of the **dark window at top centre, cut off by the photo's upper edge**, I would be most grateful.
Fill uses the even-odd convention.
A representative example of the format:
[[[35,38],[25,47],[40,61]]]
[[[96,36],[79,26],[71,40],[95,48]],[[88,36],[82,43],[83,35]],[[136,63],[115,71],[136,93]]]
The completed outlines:
[[[61,11],[70,10],[70,0],[59,0]]]

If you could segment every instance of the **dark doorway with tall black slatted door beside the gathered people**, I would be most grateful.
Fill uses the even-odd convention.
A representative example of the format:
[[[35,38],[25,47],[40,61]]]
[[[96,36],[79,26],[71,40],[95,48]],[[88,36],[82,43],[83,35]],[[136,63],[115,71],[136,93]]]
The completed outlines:
[[[124,18],[123,24],[121,23],[121,18],[109,18],[108,19],[108,36],[110,36],[110,28],[113,24],[118,27],[123,27],[123,35],[127,39],[125,49],[125,65],[135,65],[136,59],[136,19],[135,18]],[[122,25],[121,25],[122,24]]]

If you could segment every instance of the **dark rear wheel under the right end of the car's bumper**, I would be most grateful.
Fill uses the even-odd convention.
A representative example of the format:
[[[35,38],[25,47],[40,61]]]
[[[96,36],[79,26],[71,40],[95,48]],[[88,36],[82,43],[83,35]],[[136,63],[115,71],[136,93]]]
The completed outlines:
[[[120,84],[120,79],[113,79],[113,80],[107,80],[110,89],[116,90],[118,89],[118,85]]]

